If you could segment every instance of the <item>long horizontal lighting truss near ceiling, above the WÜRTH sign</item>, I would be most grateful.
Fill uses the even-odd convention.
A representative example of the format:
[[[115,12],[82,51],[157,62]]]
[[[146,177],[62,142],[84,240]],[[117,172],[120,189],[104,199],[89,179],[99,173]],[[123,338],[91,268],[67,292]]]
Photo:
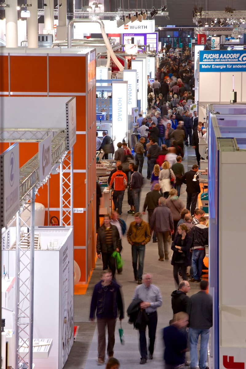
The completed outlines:
[[[146,9],[147,13],[150,14],[150,12],[153,9]],[[138,9],[138,13],[141,13],[141,11],[146,11],[145,9]],[[168,11],[162,11],[161,9],[157,9],[157,14],[156,15],[160,15],[161,17],[168,17]],[[79,17],[122,17],[122,15],[128,15],[129,13],[129,9],[125,9],[124,11],[121,9],[118,9],[118,11],[103,11],[103,10],[91,10],[91,11],[83,11],[82,9],[75,9],[74,12],[72,13],[67,13],[68,17],[73,17],[73,18],[79,18]],[[136,13],[136,9],[130,9],[130,14],[135,14]],[[42,9],[38,9],[38,15],[44,15],[44,8]],[[54,9],[54,15],[58,15],[58,9]]]

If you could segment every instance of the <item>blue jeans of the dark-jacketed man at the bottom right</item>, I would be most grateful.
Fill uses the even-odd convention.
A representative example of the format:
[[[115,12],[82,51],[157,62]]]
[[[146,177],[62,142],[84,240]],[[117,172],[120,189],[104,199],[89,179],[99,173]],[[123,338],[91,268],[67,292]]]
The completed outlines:
[[[200,348],[200,359],[199,359],[199,368],[205,369],[207,363],[208,356],[208,339],[209,339],[209,329],[189,329],[189,337],[190,337],[190,367],[197,367],[197,341],[198,337],[201,335],[201,348]]]

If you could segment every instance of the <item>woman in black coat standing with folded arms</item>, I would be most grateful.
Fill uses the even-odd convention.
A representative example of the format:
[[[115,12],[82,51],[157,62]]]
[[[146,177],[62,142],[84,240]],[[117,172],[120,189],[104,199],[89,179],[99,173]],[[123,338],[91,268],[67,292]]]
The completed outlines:
[[[190,262],[190,248],[192,244],[192,238],[187,235],[188,228],[185,224],[180,224],[178,227],[178,233],[174,238],[171,245],[173,250],[173,257],[171,265],[173,265],[173,277],[177,285],[179,286],[179,268],[181,268],[183,280],[187,280],[186,268],[191,265]]]

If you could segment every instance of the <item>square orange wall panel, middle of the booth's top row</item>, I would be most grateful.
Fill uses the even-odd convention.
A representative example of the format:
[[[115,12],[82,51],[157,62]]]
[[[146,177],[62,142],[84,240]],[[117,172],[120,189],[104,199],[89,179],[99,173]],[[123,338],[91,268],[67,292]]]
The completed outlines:
[[[47,92],[47,56],[10,55],[10,91]]]

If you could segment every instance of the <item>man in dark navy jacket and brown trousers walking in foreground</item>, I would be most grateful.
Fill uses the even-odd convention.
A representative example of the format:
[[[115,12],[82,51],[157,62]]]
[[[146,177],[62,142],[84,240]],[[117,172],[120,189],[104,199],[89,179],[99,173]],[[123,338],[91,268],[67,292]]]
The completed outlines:
[[[94,321],[95,311],[97,310],[97,329],[98,329],[98,363],[103,365],[105,362],[106,348],[106,326],[108,327],[108,357],[114,356],[114,332],[119,310],[119,320],[124,318],[123,302],[120,286],[112,280],[110,269],[103,270],[101,281],[95,287],[91,298],[90,320]]]

